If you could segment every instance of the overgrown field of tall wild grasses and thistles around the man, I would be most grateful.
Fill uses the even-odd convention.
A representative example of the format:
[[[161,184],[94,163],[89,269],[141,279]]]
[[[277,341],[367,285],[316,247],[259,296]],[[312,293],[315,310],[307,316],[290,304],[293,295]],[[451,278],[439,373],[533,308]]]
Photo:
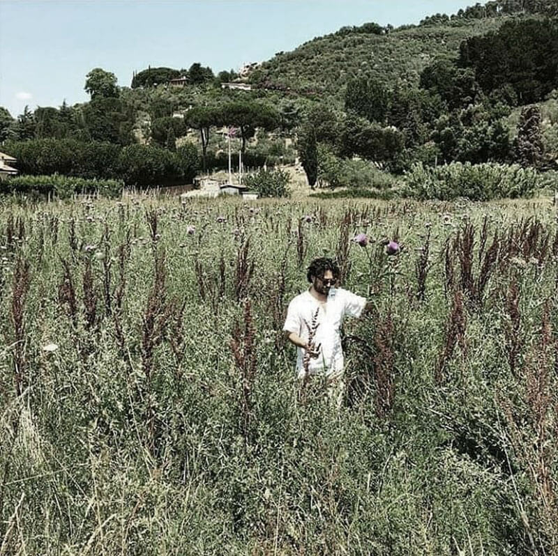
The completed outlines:
[[[558,553],[548,199],[3,201],[0,230],[1,555]],[[375,304],[340,409],[281,332],[324,254]]]

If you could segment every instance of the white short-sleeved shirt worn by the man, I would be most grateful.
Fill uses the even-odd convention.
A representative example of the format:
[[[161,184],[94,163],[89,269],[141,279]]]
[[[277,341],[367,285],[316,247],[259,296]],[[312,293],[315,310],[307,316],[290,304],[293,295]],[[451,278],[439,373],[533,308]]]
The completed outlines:
[[[320,302],[310,290],[299,294],[289,303],[287,318],[283,330],[298,334],[308,342],[312,319],[315,335],[314,346],[320,346],[319,357],[310,357],[308,371],[312,374],[325,371],[326,375],[340,373],[344,360],[341,349],[340,330],[345,315],[359,317],[366,304],[366,298],[342,288],[330,288],[326,302]],[[296,350],[296,373],[299,378],[306,374],[304,354],[306,350]]]

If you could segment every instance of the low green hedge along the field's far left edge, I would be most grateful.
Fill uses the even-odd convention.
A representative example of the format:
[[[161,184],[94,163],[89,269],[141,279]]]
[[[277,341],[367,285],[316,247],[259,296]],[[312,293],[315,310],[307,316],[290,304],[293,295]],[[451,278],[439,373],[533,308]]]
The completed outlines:
[[[117,197],[122,193],[121,180],[85,180],[73,176],[17,176],[0,181],[0,193],[24,193],[49,195],[67,199],[75,193],[98,193],[107,197]]]

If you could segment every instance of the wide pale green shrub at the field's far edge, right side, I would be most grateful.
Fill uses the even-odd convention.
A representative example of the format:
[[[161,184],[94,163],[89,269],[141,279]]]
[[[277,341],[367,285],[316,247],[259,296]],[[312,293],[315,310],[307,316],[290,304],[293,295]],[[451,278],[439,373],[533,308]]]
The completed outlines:
[[[438,167],[413,164],[405,173],[405,194],[417,199],[489,201],[531,196],[539,185],[539,174],[518,164],[470,164],[452,162]]]

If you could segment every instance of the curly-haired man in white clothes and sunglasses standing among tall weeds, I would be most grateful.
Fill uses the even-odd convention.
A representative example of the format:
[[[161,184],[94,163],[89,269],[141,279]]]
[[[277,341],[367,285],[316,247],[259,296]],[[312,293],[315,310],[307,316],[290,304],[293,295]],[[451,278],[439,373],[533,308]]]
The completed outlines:
[[[335,287],[339,267],[331,258],[315,258],[308,267],[310,288],[289,303],[283,330],[297,346],[299,378],[320,374],[342,389],[343,352],[340,329],[345,316],[359,317],[370,309],[366,298]]]

